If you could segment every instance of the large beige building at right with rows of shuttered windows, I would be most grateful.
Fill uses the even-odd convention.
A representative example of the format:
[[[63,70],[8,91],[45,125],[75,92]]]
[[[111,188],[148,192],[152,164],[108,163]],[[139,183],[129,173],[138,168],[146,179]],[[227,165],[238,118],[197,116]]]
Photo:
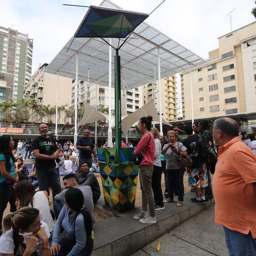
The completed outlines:
[[[256,22],[218,38],[207,63],[191,69],[194,118],[256,112]],[[192,118],[190,72],[181,73],[183,119]]]

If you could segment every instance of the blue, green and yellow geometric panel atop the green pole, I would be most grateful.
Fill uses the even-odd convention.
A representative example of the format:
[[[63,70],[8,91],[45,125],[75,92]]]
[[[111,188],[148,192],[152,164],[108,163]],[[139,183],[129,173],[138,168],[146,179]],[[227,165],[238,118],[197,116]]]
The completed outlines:
[[[90,6],[75,38],[125,38],[146,18],[145,13]]]

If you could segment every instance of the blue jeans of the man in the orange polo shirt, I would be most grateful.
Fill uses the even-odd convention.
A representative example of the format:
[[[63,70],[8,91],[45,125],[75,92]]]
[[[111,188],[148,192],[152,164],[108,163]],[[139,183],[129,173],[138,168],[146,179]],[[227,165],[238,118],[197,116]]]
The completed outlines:
[[[247,235],[224,228],[229,256],[256,256],[256,239],[251,232]]]

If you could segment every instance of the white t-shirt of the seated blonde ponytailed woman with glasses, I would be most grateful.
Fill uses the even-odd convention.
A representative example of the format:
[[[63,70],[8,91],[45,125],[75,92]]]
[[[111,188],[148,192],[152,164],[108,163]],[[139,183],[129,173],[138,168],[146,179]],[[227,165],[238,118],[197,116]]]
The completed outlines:
[[[42,222],[42,221],[41,221]],[[46,235],[50,236],[50,232],[48,230],[48,226],[45,222],[42,222],[42,227],[44,228]],[[38,240],[39,244],[42,244],[42,240]],[[3,233],[0,237],[0,253],[5,254],[14,254],[14,242],[13,242],[13,230],[12,228],[7,232]],[[39,246],[37,245],[34,250],[38,250]],[[18,250],[16,252],[16,256],[22,256],[25,252],[25,249],[19,244]]]

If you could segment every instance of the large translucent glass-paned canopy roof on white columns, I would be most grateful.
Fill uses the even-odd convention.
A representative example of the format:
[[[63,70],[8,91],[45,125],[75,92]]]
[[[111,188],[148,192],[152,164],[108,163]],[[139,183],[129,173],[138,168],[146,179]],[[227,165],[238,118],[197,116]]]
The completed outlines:
[[[104,0],[100,5],[120,9],[109,0]],[[76,33],[79,31],[78,29]],[[72,42],[72,40],[74,41]],[[109,39],[105,38],[105,40],[109,42]],[[119,38],[112,38],[111,44],[117,48],[118,44],[122,44],[124,40],[125,38],[120,38],[120,42],[118,42]],[[124,79],[128,89],[154,81],[154,70],[156,70],[156,74],[158,73],[158,48],[160,48],[161,78],[183,72],[190,68],[190,64],[191,68],[194,68],[206,62],[178,42],[142,22],[119,50],[121,78]],[[75,79],[76,52],[79,53],[78,79],[87,81],[89,69],[90,83],[108,86],[109,45],[100,38],[74,38],[73,36],[47,66],[45,72],[52,74],[59,72],[60,76]],[[112,72],[114,72],[115,54],[112,50]],[[112,75],[112,85],[114,86],[114,75]]]

